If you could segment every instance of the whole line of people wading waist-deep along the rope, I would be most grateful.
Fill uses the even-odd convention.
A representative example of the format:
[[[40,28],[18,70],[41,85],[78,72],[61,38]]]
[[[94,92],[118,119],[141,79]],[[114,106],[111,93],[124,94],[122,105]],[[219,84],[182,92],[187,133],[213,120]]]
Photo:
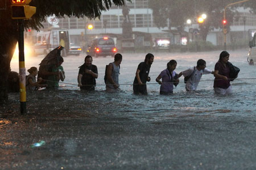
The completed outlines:
[[[181,71],[179,74],[175,72],[177,62],[171,59],[167,63],[167,68],[161,71],[158,77],[155,79],[160,86],[160,95],[171,95],[173,94],[174,86],[179,84],[179,78],[184,76],[184,83],[186,91],[196,91],[199,85],[200,79],[203,74],[213,74],[214,79],[214,92],[221,95],[232,94],[232,86],[230,85],[230,80],[237,77],[238,72],[235,77],[231,77],[233,66],[229,60],[229,53],[223,51],[220,53],[220,58],[218,59],[214,71],[207,69],[206,62],[204,59],[199,59],[196,66],[190,67],[187,70]],[[58,88],[59,80],[64,81],[65,72],[61,64],[63,63],[63,57],[59,55],[57,57],[57,62],[52,65],[40,65],[38,80],[36,81],[36,75],[38,70],[36,67],[31,67],[28,69],[30,73],[26,76],[26,89],[27,91],[34,91],[40,87],[46,88]],[[92,56],[86,56],[84,64],[79,67],[79,74],[77,76],[78,86],[81,91],[94,91],[96,86],[96,79],[98,78],[97,66],[92,64]],[[106,65],[105,71],[105,84],[106,91],[114,92],[119,91],[119,74],[120,65],[122,62],[122,54],[117,53],[114,56],[114,61]],[[135,78],[133,82],[133,93],[135,95],[147,95],[147,82],[150,82],[151,78],[149,76],[150,67],[154,62],[154,55],[148,53],[143,62],[139,63],[137,70],[135,72]],[[230,66],[231,65],[231,66]],[[238,69],[239,70],[239,69]]]

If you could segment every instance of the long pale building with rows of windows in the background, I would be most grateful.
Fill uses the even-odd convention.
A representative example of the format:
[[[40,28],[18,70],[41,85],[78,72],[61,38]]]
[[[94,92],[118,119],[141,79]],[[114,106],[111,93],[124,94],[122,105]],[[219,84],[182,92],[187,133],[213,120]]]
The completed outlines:
[[[168,29],[168,21],[166,28],[157,28],[154,24],[152,10],[148,8],[148,0],[133,0],[128,2],[127,6],[130,8],[129,17],[133,25],[134,32],[150,33],[152,38],[170,37],[172,44],[181,44],[181,37],[164,32]],[[250,39],[249,31],[256,29],[256,15],[251,14],[249,9],[238,8],[239,17],[234,18],[233,25],[230,26],[230,32],[227,35],[227,43],[241,44],[243,41],[247,42]],[[69,30],[71,41],[79,43],[86,37],[100,35],[102,33],[122,34],[122,7],[113,6],[109,11],[103,11],[100,19],[89,20],[82,18],[61,18],[59,19],[60,28]],[[89,24],[93,25],[93,29],[87,29]],[[51,27],[51,24],[43,23],[45,28]],[[185,28],[188,32],[189,28]],[[82,35],[82,36],[81,36]],[[212,42],[213,45],[223,45],[223,33],[221,29],[214,29],[209,32],[207,41]],[[234,42],[236,41],[236,42]]]

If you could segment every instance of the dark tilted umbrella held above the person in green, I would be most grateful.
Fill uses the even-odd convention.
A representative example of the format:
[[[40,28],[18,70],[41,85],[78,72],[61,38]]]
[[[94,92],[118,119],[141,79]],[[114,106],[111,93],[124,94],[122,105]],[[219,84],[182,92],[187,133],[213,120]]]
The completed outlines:
[[[46,65],[54,65],[59,62],[59,59],[61,58],[60,56],[60,51],[63,50],[63,46],[58,46],[57,48],[53,49],[51,52],[47,54],[46,57],[41,61],[39,64],[40,66],[46,66]]]

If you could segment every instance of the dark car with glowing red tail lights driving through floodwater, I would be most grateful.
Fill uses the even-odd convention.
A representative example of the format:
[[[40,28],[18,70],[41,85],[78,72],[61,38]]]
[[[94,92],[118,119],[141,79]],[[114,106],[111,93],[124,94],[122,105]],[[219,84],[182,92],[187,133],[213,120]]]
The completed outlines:
[[[100,37],[92,41],[92,44],[88,46],[86,53],[87,55],[95,57],[114,57],[115,53],[117,53],[117,48],[111,37]]]

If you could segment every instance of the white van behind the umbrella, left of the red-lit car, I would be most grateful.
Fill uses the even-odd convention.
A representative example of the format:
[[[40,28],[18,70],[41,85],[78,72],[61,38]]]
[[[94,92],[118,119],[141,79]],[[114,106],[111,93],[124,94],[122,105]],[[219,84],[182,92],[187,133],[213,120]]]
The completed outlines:
[[[69,44],[69,34],[67,29],[52,29],[50,31],[42,31],[36,35],[34,54],[46,55],[57,46],[62,45],[64,46],[64,49],[61,51],[61,56],[66,56],[69,53]]]

